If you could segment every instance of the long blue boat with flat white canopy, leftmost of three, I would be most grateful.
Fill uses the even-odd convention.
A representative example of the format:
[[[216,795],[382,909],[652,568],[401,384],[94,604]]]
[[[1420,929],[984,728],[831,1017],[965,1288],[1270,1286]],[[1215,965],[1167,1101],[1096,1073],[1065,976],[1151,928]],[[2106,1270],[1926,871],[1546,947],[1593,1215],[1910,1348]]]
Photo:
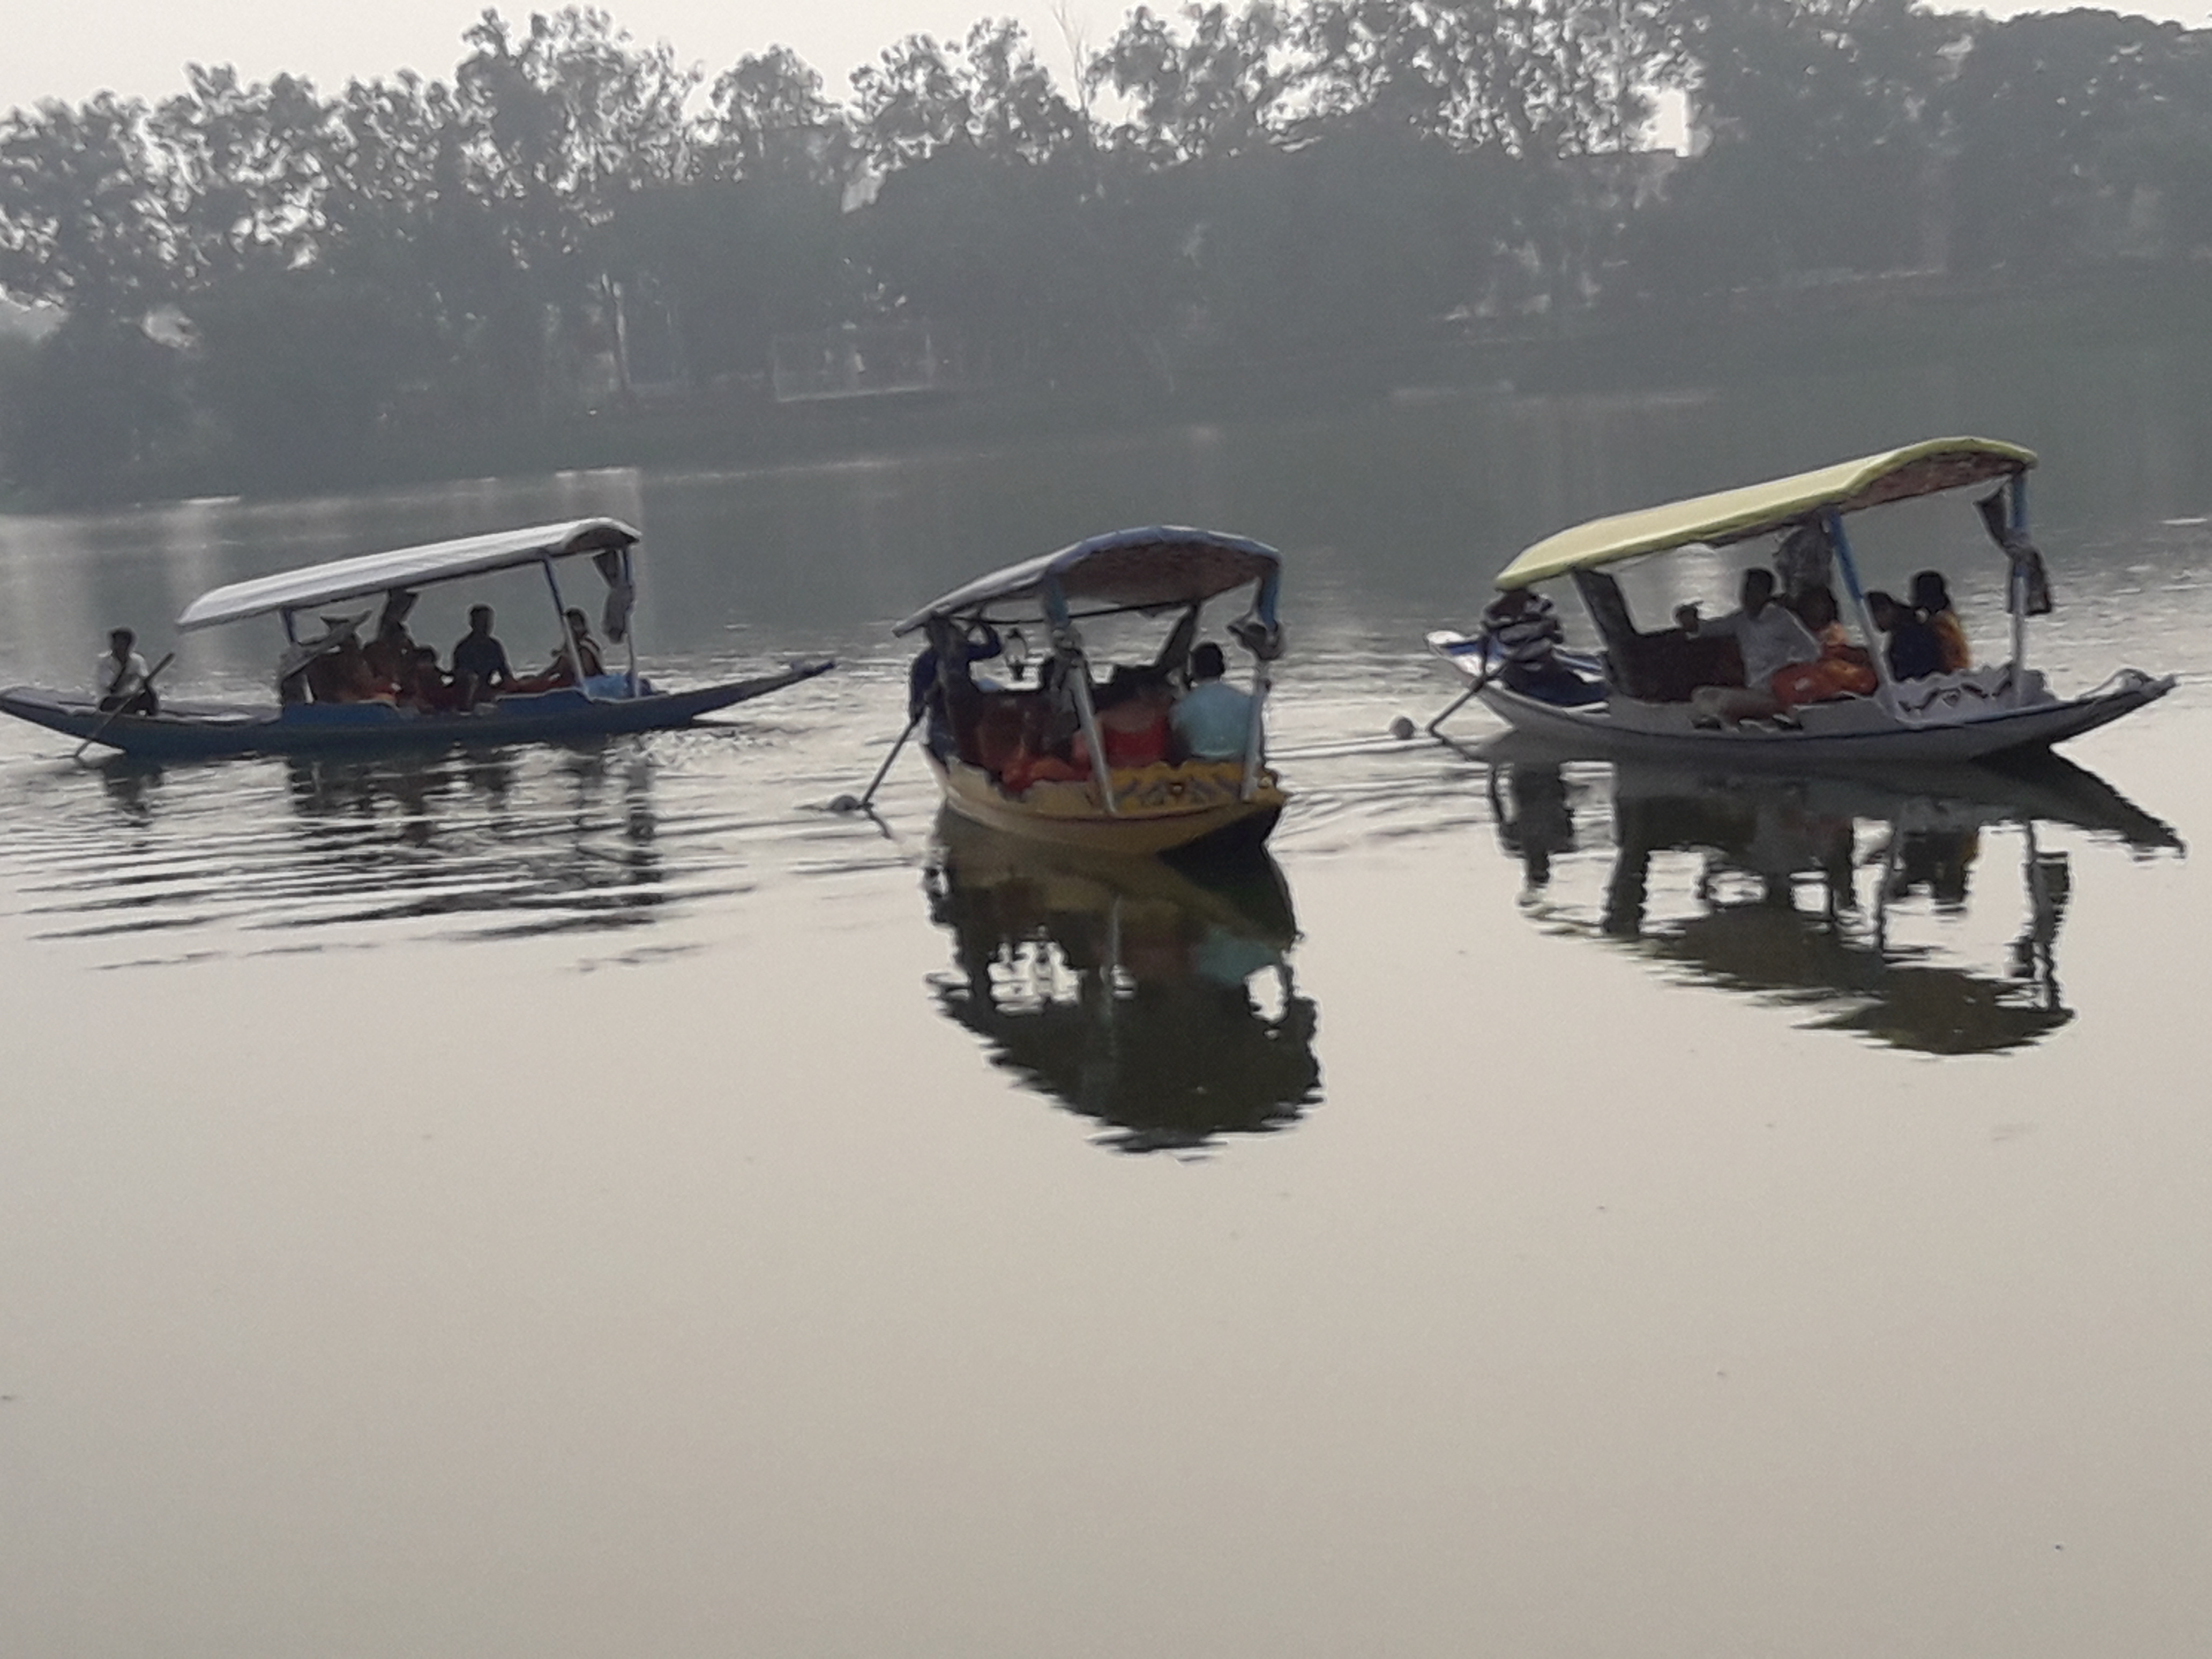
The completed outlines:
[[[161,699],[159,712],[133,712],[102,708],[102,701],[88,695],[13,686],[0,692],[0,710],[146,759],[319,754],[394,743],[540,743],[686,726],[701,714],[796,686],[834,666],[794,661],[772,675],[695,690],[655,686],[637,672],[637,637],[630,628],[637,542],[639,533],[619,520],[584,518],[365,553],[232,582],[186,606],[177,628],[190,633],[276,617],[288,641],[276,668],[276,703]],[[602,628],[626,653],[624,666],[615,672],[588,672],[591,657],[577,639],[557,568],[575,560],[586,560],[604,580]],[[562,657],[571,666],[571,672],[557,679],[566,684],[487,695],[469,708],[407,706],[392,697],[321,699],[310,690],[316,664],[347,648],[358,650],[358,628],[372,611],[319,617],[325,626],[312,635],[301,628],[303,615],[319,613],[321,606],[383,599],[387,617],[405,617],[418,588],[533,566],[544,573],[553,602],[555,626],[564,641]]]

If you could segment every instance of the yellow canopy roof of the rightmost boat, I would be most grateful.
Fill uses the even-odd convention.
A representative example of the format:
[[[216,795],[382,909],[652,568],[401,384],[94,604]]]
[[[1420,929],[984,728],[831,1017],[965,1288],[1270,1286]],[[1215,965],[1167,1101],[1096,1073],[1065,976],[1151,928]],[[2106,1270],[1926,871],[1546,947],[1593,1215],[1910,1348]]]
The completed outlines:
[[[1834,467],[1776,478],[1767,484],[1692,495],[1686,502],[1644,507],[1635,513],[1593,518],[1571,531],[1546,535],[1498,573],[1500,588],[1526,588],[1571,571],[1668,553],[1692,542],[1728,546],[1754,535],[1772,535],[1814,513],[1856,513],[1913,495],[1986,484],[2024,473],[2035,451],[1995,438],[1929,438],[1878,456],[1840,460]]]

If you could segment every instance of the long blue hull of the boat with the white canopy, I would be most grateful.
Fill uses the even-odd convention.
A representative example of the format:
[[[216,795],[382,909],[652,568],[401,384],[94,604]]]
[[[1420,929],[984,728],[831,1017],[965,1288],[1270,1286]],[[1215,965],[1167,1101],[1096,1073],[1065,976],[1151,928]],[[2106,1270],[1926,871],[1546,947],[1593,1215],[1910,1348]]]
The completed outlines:
[[[91,699],[62,697],[29,686],[0,690],[0,712],[148,761],[562,743],[577,737],[619,737],[688,726],[719,708],[814,679],[832,666],[830,661],[796,664],[779,675],[622,699],[593,699],[573,688],[535,697],[502,697],[469,714],[418,714],[389,703],[294,703],[288,708],[177,703],[161,714],[108,717]]]

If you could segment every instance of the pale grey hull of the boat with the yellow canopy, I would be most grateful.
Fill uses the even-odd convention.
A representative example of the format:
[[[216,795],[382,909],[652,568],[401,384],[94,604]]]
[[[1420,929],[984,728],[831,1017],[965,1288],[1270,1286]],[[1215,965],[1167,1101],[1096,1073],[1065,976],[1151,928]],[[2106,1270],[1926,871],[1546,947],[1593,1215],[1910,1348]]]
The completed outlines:
[[[1960,719],[1898,719],[1878,699],[1854,697],[1801,708],[1798,726],[1754,721],[1697,728],[1686,703],[1608,699],[1564,708],[1524,697],[1502,681],[1484,681],[1480,646],[1464,635],[1433,633],[1429,648],[1478,686],[1475,695],[1498,719],[1546,743],[1608,759],[1717,761],[1750,768],[1947,765],[2026,754],[2110,726],[2174,688],[2170,675],[2152,679],[2124,668],[2110,690],[1993,703]]]

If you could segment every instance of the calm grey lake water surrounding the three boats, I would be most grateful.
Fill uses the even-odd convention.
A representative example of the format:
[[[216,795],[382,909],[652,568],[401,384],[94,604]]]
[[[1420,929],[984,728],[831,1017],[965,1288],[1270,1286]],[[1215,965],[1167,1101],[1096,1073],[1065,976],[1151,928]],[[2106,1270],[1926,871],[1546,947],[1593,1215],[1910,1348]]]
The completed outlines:
[[[586,511],[646,533],[666,679],[843,664],[597,748],[0,732],[0,1650],[2203,1652],[2212,442],[2108,392],[0,520],[0,681]],[[2183,675],[2070,765],[1385,737],[1520,542],[1944,429],[2044,447],[2033,659]],[[1157,520],[1292,560],[1272,863],[940,832],[911,757],[823,810],[898,730],[894,617]],[[1865,538],[2000,644],[1962,502]]]

